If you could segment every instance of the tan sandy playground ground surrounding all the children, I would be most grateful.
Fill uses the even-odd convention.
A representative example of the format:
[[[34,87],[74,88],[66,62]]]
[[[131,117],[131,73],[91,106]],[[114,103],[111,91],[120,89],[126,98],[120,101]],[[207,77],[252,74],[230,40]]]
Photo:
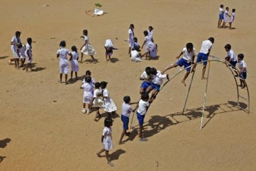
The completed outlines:
[[[255,1],[102,1],[108,12],[91,17],[94,1],[13,1],[2,0],[0,10],[0,170],[256,170],[255,148]],[[235,8],[234,30],[217,29],[220,3]],[[49,4],[49,7],[43,5]],[[159,60],[131,62],[127,55],[127,30],[135,25],[135,36],[143,42],[143,30],[153,26]],[[139,98],[139,76],[147,66],[163,69],[175,62],[186,43],[198,52],[202,40],[215,38],[212,55],[224,58],[223,46],[230,43],[234,51],[244,53],[247,83],[251,95],[251,113],[234,107],[236,86],[230,71],[212,63],[206,102],[205,127],[200,130],[205,81],[200,80],[202,66],[197,67],[185,115],[180,115],[187,92],[180,80],[183,74],[166,85],[151,105],[145,118],[145,136],[135,134],[118,145],[122,131],[119,117],[113,125],[114,149],[110,151],[115,167],[95,153],[102,148],[100,137],[103,118],[95,123],[95,112],[83,115],[81,81],[59,84],[59,60],[55,54],[60,40],[67,47],[82,45],[82,30],[89,30],[90,42],[99,63],[79,64],[83,76],[88,69],[96,81],[107,81],[111,97],[121,115],[124,95]],[[22,31],[21,40],[33,44],[35,72],[14,69],[11,38]],[[50,39],[55,37],[55,39]],[[118,38],[115,39],[115,38]],[[103,43],[111,38],[119,48],[113,63],[105,62]],[[90,59],[85,56],[85,59]],[[168,73],[175,74],[172,69]],[[189,82],[189,76],[187,83]],[[245,95],[244,91],[241,91]],[[53,102],[57,100],[57,102]],[[246,107],[247,103],[242,101]],[[103,111],[101,111],[103,112]],[[134,119],[137,125],[137,119]],[[138,127],[138,126],[137,126]],[[5,143],[5,139],[10,139]]]

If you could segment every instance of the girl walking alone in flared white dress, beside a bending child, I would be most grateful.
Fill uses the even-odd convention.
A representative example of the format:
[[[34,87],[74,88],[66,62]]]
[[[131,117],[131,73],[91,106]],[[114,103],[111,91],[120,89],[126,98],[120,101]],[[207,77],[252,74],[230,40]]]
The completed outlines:
[[[83,63],[84,54],[90,55],[92,60],[95,61],[95,59],[93,58],[93,55],[95,55],[95,50],[92,47],[92,45],[89,43],[88,31],[83,30],[83,36],[81,36],[81,37],[84,38],[84,44],[80,48],[80,50],[81,50],[81,63]]]

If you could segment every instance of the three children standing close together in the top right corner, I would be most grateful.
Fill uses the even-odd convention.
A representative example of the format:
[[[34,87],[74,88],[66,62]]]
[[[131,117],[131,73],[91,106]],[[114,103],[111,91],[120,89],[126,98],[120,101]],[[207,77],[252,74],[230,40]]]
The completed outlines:
[[[232,23],[235,20],[235,11],[236,9],[232,9],[232,13],[231,15],[228,14],[229,11],[229,7],[226,7],[226,10],[224,10],[224,5],[220,5],[220,9],[219,9],[219,21],[218,21],[218,28],[225,28],[226,29],[226,23],[229,23],[229,29],[232,29]],[[228,17],[230,18],[228,21]],[[221,22],[223,20],[223,24],[221,26]]]

